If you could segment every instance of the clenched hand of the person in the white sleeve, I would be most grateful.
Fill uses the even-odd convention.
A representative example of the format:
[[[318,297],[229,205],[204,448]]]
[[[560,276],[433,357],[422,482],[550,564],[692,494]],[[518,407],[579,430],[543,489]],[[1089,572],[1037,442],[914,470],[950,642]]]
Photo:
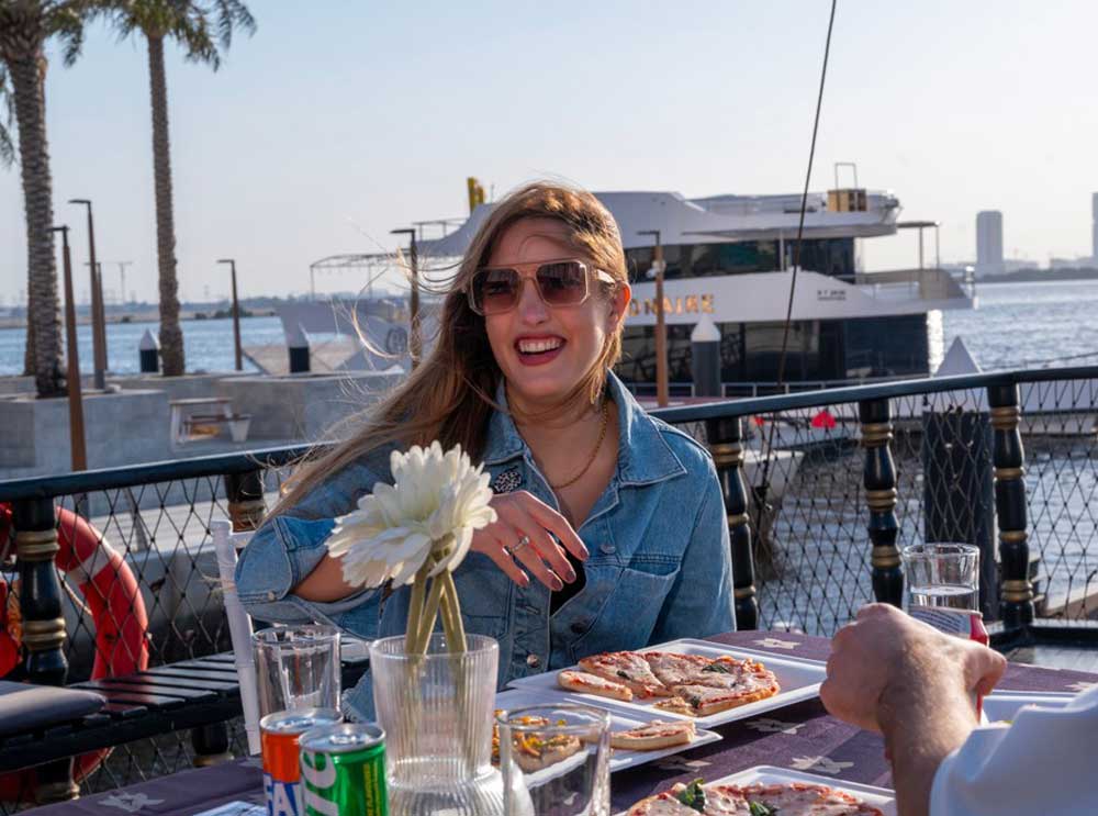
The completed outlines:
[[[820,700],[839,719],[881,731],[897,703],[966,702],[973,692],[990,692],[1006,664],[985,646],[944,635],[888,604],[870,604],[831,640]]]

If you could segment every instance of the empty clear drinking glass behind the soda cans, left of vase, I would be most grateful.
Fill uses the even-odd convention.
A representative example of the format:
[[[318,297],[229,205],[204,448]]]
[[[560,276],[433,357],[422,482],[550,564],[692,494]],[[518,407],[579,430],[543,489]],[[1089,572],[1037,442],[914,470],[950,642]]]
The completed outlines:
[[[261,629],[251,642],[260,716],[294,708],[339,708],[339,631],[334,626]]]

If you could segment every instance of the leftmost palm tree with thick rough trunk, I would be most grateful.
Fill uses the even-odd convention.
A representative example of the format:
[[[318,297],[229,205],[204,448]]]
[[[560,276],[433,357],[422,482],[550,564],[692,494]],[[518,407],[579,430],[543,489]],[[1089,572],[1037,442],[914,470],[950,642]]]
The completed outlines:
[[[82,0],[0,0],[0,160],[14,157],[10,123],[14,108],[26,215],[27,365],[38,396],[65,393],[61,371],[57,264],[54,254],[53,180],[46,143],[46,55],[61,41],[66,65],[83,43],[88,3]]]

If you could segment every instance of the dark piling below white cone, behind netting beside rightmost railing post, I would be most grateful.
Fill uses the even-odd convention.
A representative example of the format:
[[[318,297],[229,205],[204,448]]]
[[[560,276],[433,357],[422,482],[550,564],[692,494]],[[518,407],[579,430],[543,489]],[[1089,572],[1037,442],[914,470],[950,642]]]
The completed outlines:
[[[922,415],[925,539],[979,547],[979,610],[999,617],[991,425],[961,407]]]

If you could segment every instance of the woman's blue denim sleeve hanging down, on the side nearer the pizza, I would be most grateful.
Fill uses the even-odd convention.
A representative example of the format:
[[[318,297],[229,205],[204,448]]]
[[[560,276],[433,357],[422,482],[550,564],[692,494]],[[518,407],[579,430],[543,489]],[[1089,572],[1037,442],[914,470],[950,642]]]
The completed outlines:
[[[706,483],[701,485],[702,504],[679,577],[652,633],[653,644],[707,637],[736,628],[728,517],[717,471],[708,459],[707,466]]]

